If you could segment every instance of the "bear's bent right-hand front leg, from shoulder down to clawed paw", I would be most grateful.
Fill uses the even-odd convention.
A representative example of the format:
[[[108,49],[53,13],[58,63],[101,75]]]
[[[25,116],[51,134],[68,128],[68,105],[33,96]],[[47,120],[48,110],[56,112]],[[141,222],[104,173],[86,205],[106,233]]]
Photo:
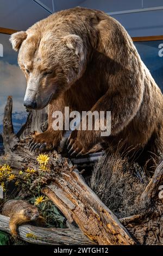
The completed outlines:
[[[123,90],[120,90],[119,92],[109,92],[108,90],[108,92],[92,107],[91,113],[94,111],[97,111],[98,113],[103,111],[104,116],[106,117],[106,111],[110,111],[111,133],[109,135],[116,136],[129,124],[137,111],[139,111],[142,93],[143,86],[141,86],[139,81],[137,81],[136,86],[133,84],[130,86],[130,90],[126,91],[126,95],[123,95]],[[106,123],[107,120],[104,118],[104,124]],[[80,127],[82,127],[81,124]],[[102,141],[102,131],[103,129],[88,130],[87,126],[86,130],[73,131],[67,143],[69,153],[71,153],[71,155],[77,154],[77,156],[88,153],[94,145]],[[104,138],[105,137],[103,137],[103,139]]]

